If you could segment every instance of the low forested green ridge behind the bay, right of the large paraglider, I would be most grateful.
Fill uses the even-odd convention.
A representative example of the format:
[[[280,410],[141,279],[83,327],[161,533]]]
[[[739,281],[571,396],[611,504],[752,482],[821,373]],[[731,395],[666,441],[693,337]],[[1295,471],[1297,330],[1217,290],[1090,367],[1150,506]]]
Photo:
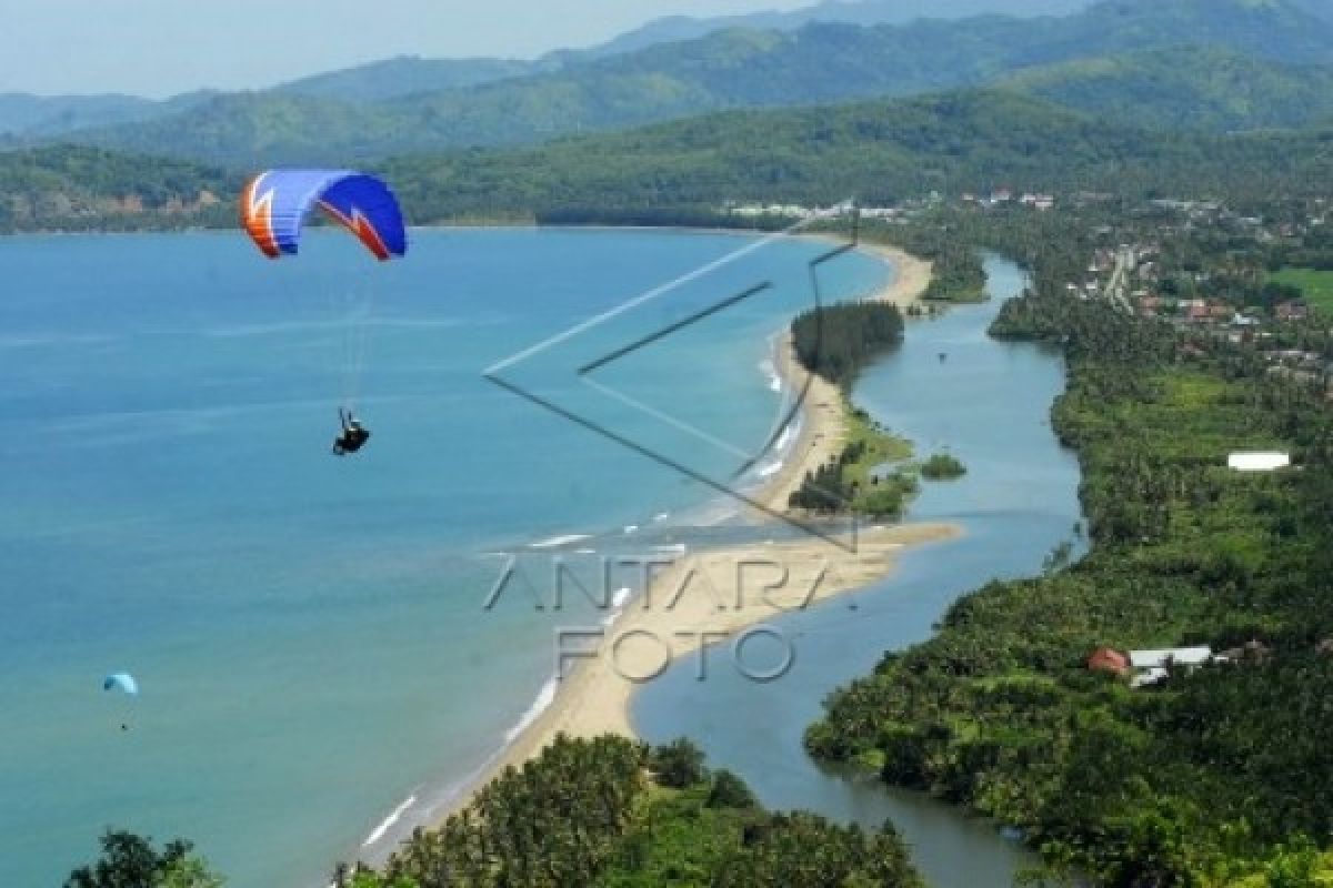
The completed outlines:
[[[1001,184],[1262,196],[1333,180],[1329,145],[1329,132],[1157,134],[1012,92],[968,91],[728,112],[540,148],[400,157],[381,170],[417,222],[527,213],[577,220],[572,210],[585,208],[651,217],[724,201],[857,196],[881,204]]]

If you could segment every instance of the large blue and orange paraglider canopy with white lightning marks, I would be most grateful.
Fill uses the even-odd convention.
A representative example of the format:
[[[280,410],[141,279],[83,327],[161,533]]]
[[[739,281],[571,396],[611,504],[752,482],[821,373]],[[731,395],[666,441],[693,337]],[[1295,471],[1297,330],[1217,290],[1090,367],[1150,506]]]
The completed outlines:
[[[296,256],[301,226],[319,205],[376,258],[405,256],[403,209],[389,186],[349,169],[271,169],[241,192],[241,225],[269,258]]]

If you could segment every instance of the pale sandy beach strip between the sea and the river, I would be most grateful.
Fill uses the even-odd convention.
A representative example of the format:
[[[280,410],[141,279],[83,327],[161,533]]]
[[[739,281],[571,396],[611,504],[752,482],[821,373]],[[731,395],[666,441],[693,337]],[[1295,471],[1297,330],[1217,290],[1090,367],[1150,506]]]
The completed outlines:
[[[894,269],[893,280],[869,298],[905,309],[925,293],[930,282],[930,262],[882,244],[862,242],[858,249]],[[809,386],[797,418],[800,433],[796,443],[782,467],[752,494],[765,509],[784,513],[788,498],[800,487],[805,474],[837,455],[846,435],[846,417],[838,387],[810,374],[796,361],[789,330],[776,339],[774,346],[776,371],[786,390]],[[627,675],[649,675],[661,667],[666,655],[664,642],[648,640],[649,636],[670,639],[669,663],[678,663],[682,658],[702,663],[705,655],[696,654],[701,647],[716,646],[784,612],[862,588],[892,574],[894,555],[900,550],[953,539],[961,533],[957,525],[942,523],[877,526],[858,534],[854,551],[830,546],[822,539],[802,539],[704,550],[677,559],[656,574],[648,590],[633,599],[612,624],[613,632],[608,632],[608,638],[624,639],[615,656],[608,650],[612,646],[604,644],[589,656],[572,658],[577,660],[577,667],[567,667],[568,674],[556,686],[549,704],[527,720],[432,813],[432,823],[439,825],[465,808],[481,787],[507,768],[521,767],[559,734],[575,738],[608,732],[636,736],[631,707],[635,692],[647,682],[636,682]],[[765,580],[754,575],[762,567],[753,567],[752,574],[738,570],[738,564],[753,562],[778,562],[789,572],[778,579],[780,571],[769,567],[766,583],[781,584],[765,590]],[[749,576],[748,583],[741,576]],[[721,662],[722,658],[722,654],[714,654],[708,660]],[[726,664],[725,668],[733,666]]]

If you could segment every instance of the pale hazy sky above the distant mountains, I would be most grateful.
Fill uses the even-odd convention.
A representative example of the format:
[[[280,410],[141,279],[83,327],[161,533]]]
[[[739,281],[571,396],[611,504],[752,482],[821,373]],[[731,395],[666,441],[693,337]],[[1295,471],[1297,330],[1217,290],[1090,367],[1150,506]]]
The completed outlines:
[[[536,56],[814,0],[0,0],[0,93],[268,87],[396,55]]]

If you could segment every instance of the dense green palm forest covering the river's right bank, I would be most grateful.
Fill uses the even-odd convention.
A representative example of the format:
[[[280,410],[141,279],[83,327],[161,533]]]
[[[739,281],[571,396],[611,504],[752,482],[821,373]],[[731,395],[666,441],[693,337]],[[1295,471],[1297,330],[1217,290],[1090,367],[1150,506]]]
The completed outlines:
[[[1018,828],[1053,869],[1097,884],[1326,884],[1314,875],[1333,876],[1318,852],[1333,836],[1322,385],[1072,298],[1065,281],[1093,246],[1084,226],[1008,222],[976,242],[1028,256],[1036,284],[994,334],[1066,354],[1053,419],[1082,462],[1090,551],[957,602],[933,639],[832,695],[806,744]],[[1226,469],[1230,451],[1270,447],[1300,470]],[[1237,652],[1137,690],[1086,666],[1100,647],[1185,644]]]

